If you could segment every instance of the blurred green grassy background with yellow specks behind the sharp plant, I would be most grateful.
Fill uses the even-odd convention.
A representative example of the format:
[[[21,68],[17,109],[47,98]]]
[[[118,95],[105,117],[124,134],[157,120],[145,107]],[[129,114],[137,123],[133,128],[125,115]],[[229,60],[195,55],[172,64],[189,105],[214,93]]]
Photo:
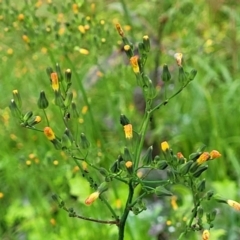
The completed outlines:
[[[122,51],[115,29],[120,22],[133,43],[151,39],[146,71],[161,85],[161,68],[177,74],[173,55],[182,52],[186,69],[198,70],[186,90],[154,115],[146,145],[167,140],[177,152],[188,155],[204,143],[222,157],[211,162],[204,177],[207,187],[223,197],[240,201],[239,94],[240,2],[235,0],[146,1],[0,1],[0,238],[12,239],[116,239],[115,226],[69,218],[51,195],[57,193],[79,214],[111,219],[99,201],[84,200],[91,193],[74,162],[56,151],[41,133],[18,126],[8,105],[18,89],[23,109],[37,108],[41,90],[53,100],[47,67],[59,63],[73,72],[74,99],[81,113],[79,128],[92,145],[89,158],[109,167],[125,140],[121,113],[137,126],[139,109],[135,76]],[[172,83],[174,88],[174,82]],[[140,98],[141,99],[141,98]],[[87,107],[87,108],[86,108]],[[140,107],[141,108],[141,107]],[[47,111],[57,134],[64,126],[56,108]],[[46,122],[39,124],[44,128]],[[96,175],[99,179],[99,176]],[[119,210],[126,189],[115,184],[108,191]],[[190,203],[188,190],[175,212],[148,199],[148,210],[131,215],[128,239],[176,239]],[[240,239],[239,213],[217,205],[212,239]],[[189,210],[189,209],[188,209]],[[189,239],[201,239],[200,233]]]

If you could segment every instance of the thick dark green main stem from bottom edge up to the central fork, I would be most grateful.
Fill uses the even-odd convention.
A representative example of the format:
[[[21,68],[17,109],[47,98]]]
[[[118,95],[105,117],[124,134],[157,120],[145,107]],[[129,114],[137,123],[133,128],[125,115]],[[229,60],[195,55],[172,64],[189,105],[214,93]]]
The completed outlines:
[[[124,208],[124,212],[123,215],[120,219],[119,222],[119,226],[118,226],[118,230],[119,230],[119,235],[118,235],[118,240],[123,240],[124,239],[124,229],[125,229],[125,224],[126,224],[126,220],[130,211],[130,207],[131,203],[132,203],[132,198],[133,198],[133,194],[134,194],[134,188],[132,186],[132,181],[130,180],[129,184],[129,191],[128,191],[128,199],[126,201],[126,205]]]

